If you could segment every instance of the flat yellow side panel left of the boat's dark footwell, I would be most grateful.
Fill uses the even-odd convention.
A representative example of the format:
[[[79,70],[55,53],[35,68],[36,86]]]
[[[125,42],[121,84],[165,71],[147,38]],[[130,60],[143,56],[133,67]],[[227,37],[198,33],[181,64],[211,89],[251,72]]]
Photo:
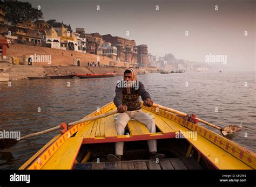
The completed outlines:
[[[72,169],[82,142],[82,137],[71,137],[66,140],[42,169]]]

